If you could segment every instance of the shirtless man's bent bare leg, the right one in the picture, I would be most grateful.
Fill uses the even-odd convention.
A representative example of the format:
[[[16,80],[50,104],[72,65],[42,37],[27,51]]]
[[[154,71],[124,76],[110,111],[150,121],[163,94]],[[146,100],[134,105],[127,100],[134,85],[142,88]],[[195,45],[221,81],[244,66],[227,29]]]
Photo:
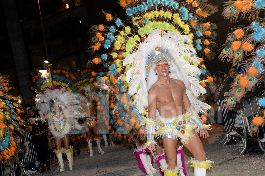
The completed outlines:
[[[184,147],[192,153],[196,160],[205,161],[206,153],[204,151],[201,140],[195,131],[193,131],[192,134],[194,135],[194,137],[192,137],[187,144],[184,144]]]

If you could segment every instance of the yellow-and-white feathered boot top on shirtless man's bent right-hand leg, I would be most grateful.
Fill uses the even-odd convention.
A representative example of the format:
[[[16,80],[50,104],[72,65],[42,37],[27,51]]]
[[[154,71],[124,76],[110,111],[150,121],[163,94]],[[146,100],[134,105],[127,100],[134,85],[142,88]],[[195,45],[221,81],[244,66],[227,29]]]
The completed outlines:
[[[195,158],[191,158],[189,163],[191,163],[190,167],[194,168],[194,176],[205,176],[206,169],[213,168],[213,166],[211,165],[213,163],[212,160],[199,161],[195,160]]]

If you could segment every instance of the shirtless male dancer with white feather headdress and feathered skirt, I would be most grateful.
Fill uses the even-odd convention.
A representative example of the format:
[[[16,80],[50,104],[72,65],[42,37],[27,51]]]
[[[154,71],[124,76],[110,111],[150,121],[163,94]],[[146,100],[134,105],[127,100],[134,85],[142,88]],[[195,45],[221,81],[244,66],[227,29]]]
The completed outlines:
[[[192,56],[195,50],[184,44],[185,41],[189,39],[177,33],[168,32],[161,37],[159,30],[153,30],[139,45],[138,52],[125,58],[124,64],[134,60],[133,67],[138,67],[140,70],[139,77],[132,77],[131,82],[141,79],[142,90],[139,91],[142,92],[137,92],[136,99],[139,93],[140,99],[144,101],[145,92],[148,92],[149,118],[144,118],[143,121],[147,124],[146,147],[154,155],[154,144],[156,144],[154,135],[157,128],[156,134],[162,138],[168,158],[168,165],[161,165],[164,174],[177,175],[180,172],[180,175],[184,175],[181,158],[177,159],[178,139],[180,139],[195,157],[190,161],[194,167],[194,175],[206,175],[206,168],[210,168],[213,162],[206,160],[203,145],[194,130],[198,128],[203,138],[208,136],[207,130],[210,130],[210,126],[203,124],[198,113],[209,109],[209,106],[194,97],[194,94],[205,94],[205,89],[199,85],[198,79],[187,76],[191,75],[191,70],[183,69],[189,65],[181,63],[183,55],[188,56],[190,62],[199,61],[198,57]],[[201,74],[195,65],[189,66],[193,71],[198,71],[193,73],[195,76]],[[133,67],[130,69],[134,69]],[[135,106],[137,107],[137,104]],[[140,108],[143,107],[140,105]]]

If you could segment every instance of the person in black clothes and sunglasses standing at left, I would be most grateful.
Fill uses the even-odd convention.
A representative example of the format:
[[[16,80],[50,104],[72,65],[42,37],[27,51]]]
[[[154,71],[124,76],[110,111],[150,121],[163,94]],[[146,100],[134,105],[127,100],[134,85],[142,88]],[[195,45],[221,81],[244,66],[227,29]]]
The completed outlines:
[[[36,112],[33,112],[32,106],[30,104],[25,105],[25,112],[27,114],[28,123],[30,121],[29,118],[35,119],[39,115]],[[49,154],[49,146],[47,139],[47,127],[42,121],[35,121],[28,125],[29,131],[32,134],[32,143],[34,145],[34,149],[37,153],[38,160],[41,166],[41,172],[50,171],[50,154]],[[46,163],[46,168],[44,163]]]

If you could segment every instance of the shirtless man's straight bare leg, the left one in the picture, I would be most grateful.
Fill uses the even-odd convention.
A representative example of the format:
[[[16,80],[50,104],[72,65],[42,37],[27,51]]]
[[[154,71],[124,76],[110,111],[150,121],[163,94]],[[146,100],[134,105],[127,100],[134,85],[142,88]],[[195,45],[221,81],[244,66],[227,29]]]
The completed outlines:
[[[178,139],[175,138],[174,141],[173,138],[162,138],[162,141],[168,158],[168,169],[175,169],[177,167]]]

